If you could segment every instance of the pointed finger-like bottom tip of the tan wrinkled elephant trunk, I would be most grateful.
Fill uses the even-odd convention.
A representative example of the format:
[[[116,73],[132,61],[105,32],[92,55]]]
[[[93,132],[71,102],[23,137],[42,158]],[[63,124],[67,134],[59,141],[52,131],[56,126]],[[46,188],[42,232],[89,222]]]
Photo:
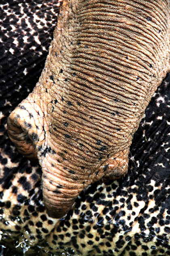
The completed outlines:
[[[47,158],[48,156],[46,156],[45,162]],[[55,171],[53,171],[53,168]],[[87,187],[85,182],[77,182],[77,178],[67,176],[59,168],[51,167],[49,172],[49,167],[43,167],[43,198],[47,213],[53,218],[60,218],[66,214],[79,193]]]

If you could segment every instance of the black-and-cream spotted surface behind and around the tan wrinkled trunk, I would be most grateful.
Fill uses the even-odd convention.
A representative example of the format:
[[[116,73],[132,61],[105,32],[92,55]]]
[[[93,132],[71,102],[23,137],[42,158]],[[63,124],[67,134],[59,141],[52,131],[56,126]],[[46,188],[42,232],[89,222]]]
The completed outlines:
[[[46,213],[40,167],[8,139],[6,119],[38,81],[60,4],[0,4],[0,255],[170,255],[170,75],[134,135],[125,178],[89,186],[60,220]]]

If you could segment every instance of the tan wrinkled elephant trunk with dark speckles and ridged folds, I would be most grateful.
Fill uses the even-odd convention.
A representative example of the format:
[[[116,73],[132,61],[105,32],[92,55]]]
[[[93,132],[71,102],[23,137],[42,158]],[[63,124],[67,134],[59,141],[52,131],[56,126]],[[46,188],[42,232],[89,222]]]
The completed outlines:
[[[62,217],[92,182],[124,176],[151,97],[170,71],[169,0],[64,0],[45,68],[8,117],[19,152],[42,167]]]

